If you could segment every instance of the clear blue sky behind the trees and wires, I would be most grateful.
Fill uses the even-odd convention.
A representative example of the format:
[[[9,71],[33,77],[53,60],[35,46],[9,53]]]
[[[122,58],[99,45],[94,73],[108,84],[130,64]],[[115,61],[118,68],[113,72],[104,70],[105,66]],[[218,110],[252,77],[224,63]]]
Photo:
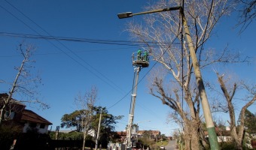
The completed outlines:
[[[50,34],[56,37],[96,40],[130,40],[129,34],[124,31],[126,23],[130,20],[140,23],[142,20],[139,20],[139,17],[119,20],[117,13],[140,12],[148,4],[145,0],[8,2],[0,1],[0,32]],[[235,23],[236,17],[221,20],[215,30],[216,36],[206,46],[224,49],[224,46],[229,43],[231,49],[239,49],[242,54],[250,55],[253,60],[251,65],[236,65],[229,69],[254,82],[256,68],[253,35],[256,32],[252,27],[255,23],[240,36],[238,30],[234,28]],[[109,108],[121,100],[108,111],[113,115],[124,115],[124,118],[116,124],[116,130],[124,130],[130,110],[129,92],[133,85],[131,55],[140,48],[139,46],[24,39],[0,35],[1,80],[9,82],[14,80],[16,75],[14,66],[19,66],[22,61],[22,57],[15,51],[20,42],[25,40],[26,43],[37,46],[37,51],[33,55],[36,60],[35,71],[40,71],[44,83],[39,92],[41,92],[41,101],[50,104],[50,109],[38,110],[29,106],[27,109],[51,121],[53,130],[60,124],[62,115],[75,110],[74,98],[78,92],[88,91],[91,86],[96,86],[99,90],[96,102],[98,106]],[[150,68],[142,69],[140,79],[148,73]],[[207,77],[207,73],[203,76]],[[139,123],[139,129],[160,130],[161,133],[169,136],[178,126],[175,123],[166,124],[166,117],[170,110],[148,94],[146,82],[145,77],[139,84],[134,123],[150,120]],[[8,92],[8,86],[0,84],[0,92]],[[124,97],[125,95],[127,96]]]

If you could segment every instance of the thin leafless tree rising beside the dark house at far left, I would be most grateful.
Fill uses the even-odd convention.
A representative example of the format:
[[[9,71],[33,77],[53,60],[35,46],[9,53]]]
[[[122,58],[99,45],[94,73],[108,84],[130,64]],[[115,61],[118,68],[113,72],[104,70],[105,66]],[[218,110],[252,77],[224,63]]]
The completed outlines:
[[[23,62],[20,67],[15,68],[17,70],[17,75],[13,83],[8,83],[7,81],[2,80],[2,83],[10,84],[11,88],[8,92],[8,96],[0,98],[0,124],[5,120],[5,111],[7,107],[10,107],[11,104],[15,105],[16,103],[29,103],[29,104],[39,104],[41,108],[49,108],[49,106],[42,101],[39,101],[36,96],[38,92],[36,91],[38,85],[41,84],[41,78],[36,76],[33,77],[30,74],[30,71],[33,68],[32,63],[35,62],[31,60],[32,53],[35,51],[35,46],[20,44],[18,47],[20,54],[23,56]],[[13,99],[14,94],[26,95],[26,98],[29,100],[15,101]],[[8,111],[11,111],[8,109]],[[11,114],[11,113],[9,113]]]

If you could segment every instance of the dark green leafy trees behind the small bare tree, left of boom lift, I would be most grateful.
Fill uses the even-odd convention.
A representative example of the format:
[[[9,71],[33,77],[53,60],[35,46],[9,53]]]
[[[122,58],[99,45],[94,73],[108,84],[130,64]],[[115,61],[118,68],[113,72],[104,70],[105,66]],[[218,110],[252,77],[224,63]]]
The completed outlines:
[[[65,114],[61,118],[61,127],[75,127],[77,132],[73,133],[59,133],[59,139],[80,139],[83,137],[83,133],[80,133],[83,129],[82,121],[83,117],[86,114],[86,110],[75,110],[73,113]],[[117,139],[120,139],[114,131],[114,124],[117,124],[117,120],[123,118],[123,115],[114,116],[108,113],[105,107],[93,107],[93,117],[90,122],[90,129],[98,132],[99,126],[99,116],[102,111],[102,119],[100,125],[100,135],[99,135],[99,144],[102,144],[102,147],[107,147],[108,142],[117,142]],[[85,112],[85,113],[83,113]],[[71,135],[73,134],[73,135]],[[50,137],[55,139],[55,133],[50,133]]]

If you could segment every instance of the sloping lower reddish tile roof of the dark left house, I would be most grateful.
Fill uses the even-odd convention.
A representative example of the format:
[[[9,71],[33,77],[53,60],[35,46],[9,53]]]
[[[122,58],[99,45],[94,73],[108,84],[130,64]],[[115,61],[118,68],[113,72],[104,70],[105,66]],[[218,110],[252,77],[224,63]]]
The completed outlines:
[[[32,110],[23,110],[21,121],[30,121],[30,122],[36,122],[41,124],[52,124],[50,123],[50,121],[47,121],[45,118],[34,113]]]

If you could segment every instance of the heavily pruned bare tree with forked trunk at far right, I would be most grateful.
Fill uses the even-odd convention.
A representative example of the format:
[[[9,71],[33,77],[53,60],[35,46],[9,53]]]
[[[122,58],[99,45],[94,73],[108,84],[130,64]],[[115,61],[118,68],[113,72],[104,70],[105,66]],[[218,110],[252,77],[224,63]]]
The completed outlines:
[[[219,107],[221,110],[228,110],[228,113],[230,115],[230,132],[231,136],[233,137],[234,141],[236,142],[237,149],[242,149],[242,137],[244,136],[244,130],[245,130],[245,110],[247,110],[248,107],[251,106],[251,104],[256,101],[256,86],[248,86],[248,84],[245,84],[244,82],[239,83],[233,83],[233,87],[227,87],[227,79],[224,80],[224,76],[221,76],[217,73],[218,76],[218,83],[221,86],[221,91],[224,94],[224,98],[227,102],[226,106]],[[245,95],[245,98],[243,98],[244,105],[242,106],[242,109],[239,112],[239,120],[238,124],[236,124],[236,113],[235,113],[235,107],[234,107],[234,101],[235,101],[235,95],[238,89],[245,89],[246,92],[248,92],[248,95]],[[240,101],[239,104],[242,101]]]

